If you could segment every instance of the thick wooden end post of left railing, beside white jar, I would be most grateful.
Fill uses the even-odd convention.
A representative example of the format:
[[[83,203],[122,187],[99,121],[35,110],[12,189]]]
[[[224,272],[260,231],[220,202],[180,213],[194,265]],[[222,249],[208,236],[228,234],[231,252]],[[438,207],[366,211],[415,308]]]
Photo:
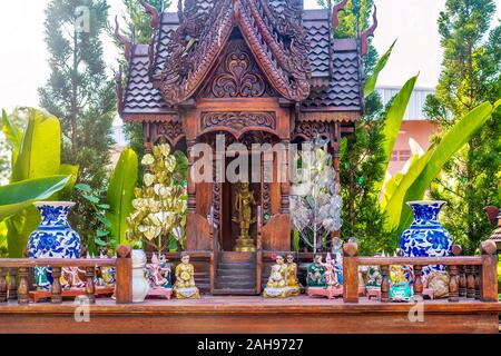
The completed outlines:
[[[117,283],[115,296],[117,304],[132,303],[132,249],[130,246],[120,245],[117,247],[116,275]]]

